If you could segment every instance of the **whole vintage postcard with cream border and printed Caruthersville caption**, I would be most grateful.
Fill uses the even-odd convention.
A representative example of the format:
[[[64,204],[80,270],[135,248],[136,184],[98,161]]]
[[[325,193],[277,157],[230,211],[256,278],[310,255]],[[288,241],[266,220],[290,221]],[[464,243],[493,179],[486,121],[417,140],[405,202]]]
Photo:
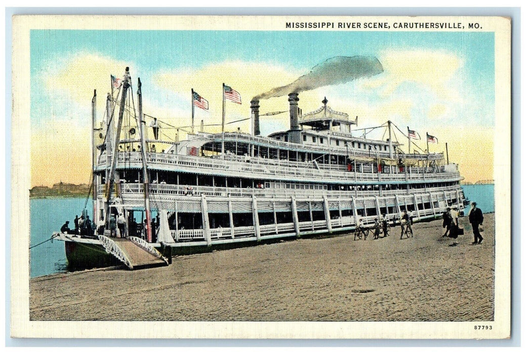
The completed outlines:
[[[508,338],[510,28],[13,17],[12,336]]]

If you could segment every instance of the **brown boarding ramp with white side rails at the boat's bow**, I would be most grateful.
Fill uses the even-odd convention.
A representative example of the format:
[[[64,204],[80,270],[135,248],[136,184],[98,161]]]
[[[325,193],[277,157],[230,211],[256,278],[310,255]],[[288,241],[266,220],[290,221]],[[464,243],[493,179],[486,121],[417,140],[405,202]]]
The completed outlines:
[[[106,252],[113,254],[129,269],[168,265],[168,259],[141,238],[109,238],[102,235],[98,237]]]

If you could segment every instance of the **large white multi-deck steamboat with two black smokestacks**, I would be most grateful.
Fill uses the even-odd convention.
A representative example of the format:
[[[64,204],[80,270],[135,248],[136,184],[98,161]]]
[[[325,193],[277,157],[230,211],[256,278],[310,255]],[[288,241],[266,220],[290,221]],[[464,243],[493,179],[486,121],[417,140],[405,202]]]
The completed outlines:
[[[261,136],[253,99],[250,133],[225,131],[223,113],[221,132],[192,123],[185,139],[163,139],[156,119],[146,123],[153,117],[143,113],[140,79],[137,111],[128,70],[118,86],[112,79],[100,128],[96,92],[92,100],[96,227],[53,235],[70,265],[162,265],[172,251],[348,233],[385,218],[395,224],[403,211],[432,220],[466,202],[458,166],[443,153],[403,152],[391,121],[376,127],[385,139],[367,139],[358,118],[327,99],[304,114],[290,92],[286,131]],[[411,134],[404,139],[410,147]]]

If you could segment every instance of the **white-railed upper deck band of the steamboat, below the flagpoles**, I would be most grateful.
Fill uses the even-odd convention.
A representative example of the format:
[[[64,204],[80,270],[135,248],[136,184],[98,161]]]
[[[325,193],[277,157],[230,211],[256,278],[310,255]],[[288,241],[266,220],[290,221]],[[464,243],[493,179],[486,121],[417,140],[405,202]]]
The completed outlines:
[[[404,184],[420,182],[454,182],[461,180],[454,164],[435,168],[406,167],[392,169],[396,173],[374,172],[373,164],[364,165],[362,171],[350,172],[345,166],[314,164],[262,158],[225,155],[220,157],[196,157],[170,153],[146,154],[148,169],[159,171],[186,172],[216,176],[242,177],[309,183],[345,184]],[[139,152],[119,152],[118,169],[141,169],[143,161]],[[316,167],[317,166],[317,167]],[[96,171],[106,169],[106,155],[98,159]]]

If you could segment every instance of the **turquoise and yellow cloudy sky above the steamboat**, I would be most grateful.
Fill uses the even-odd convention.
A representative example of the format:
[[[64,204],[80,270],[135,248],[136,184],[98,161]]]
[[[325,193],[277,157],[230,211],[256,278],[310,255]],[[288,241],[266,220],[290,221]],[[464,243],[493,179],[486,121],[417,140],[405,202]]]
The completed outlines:
[[[450,162],[466,181],[493,179],[493,52],[493,33],[484,32],[32,30],[32,185],[89,183],[93,90],[100,121],[109,77],[122,77],[126,66],[134,95],[138,77],[143,84],[144,112],[183,127],[190,124],[192,88],[210,106],[196,109],[197,124],[221,122],[223,82],[237,90],[242,105],[226,106],[226,121],[235,121],[250,117],[252,97],[331,57],[355,55],[377,57],[384,72],[300,93],[304,113],[327,97],[332,109],[358,116],[358,128],[391,120],[403,132],[416,130],[422,149],[428,132],[438,138],[430,151],[445,151],[448,142]],[[260,113],[285,111],[287,97],[260,106]],[[287,130],[288,114],[261,117],[260,124],[263,135]],[[248,132],[249,120],[226,130],[237,127]],[[174,138],[165,128],[161,133]],[[402,133],[397,138],[407,150]]]

